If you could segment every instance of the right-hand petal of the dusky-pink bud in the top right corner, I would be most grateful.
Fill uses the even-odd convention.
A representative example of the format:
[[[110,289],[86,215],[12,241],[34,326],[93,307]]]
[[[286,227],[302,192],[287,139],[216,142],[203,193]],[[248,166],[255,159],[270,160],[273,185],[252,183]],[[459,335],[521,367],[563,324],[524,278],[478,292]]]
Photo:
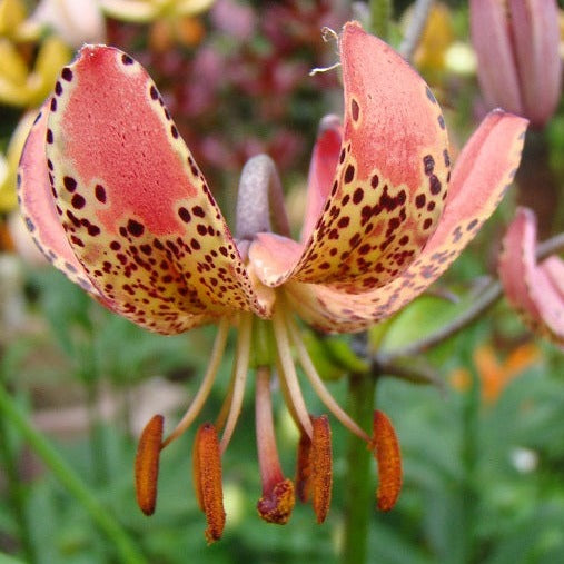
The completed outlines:
[[[556,0],[509,0],[508,7],[525,116],[543,126],[561,91],[558,6]]]

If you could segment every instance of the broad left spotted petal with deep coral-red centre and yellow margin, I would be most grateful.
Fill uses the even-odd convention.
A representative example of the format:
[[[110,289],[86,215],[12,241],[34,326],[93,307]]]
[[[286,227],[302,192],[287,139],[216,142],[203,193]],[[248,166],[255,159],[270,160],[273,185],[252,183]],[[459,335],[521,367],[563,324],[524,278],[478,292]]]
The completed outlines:
[[[83,47],[57,81],[46,141],[60,221],[116,311],[167,334],[263,314],[202,174],[131,57]]]

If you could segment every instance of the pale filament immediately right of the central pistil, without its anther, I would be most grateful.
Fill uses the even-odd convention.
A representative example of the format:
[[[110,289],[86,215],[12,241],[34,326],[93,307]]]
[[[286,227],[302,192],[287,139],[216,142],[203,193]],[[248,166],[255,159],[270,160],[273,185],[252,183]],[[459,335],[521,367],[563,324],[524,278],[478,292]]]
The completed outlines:
[[[294,405],[294,410],[296,412],[303,429],[309,437],[311,437],[314,431],[311,428],[311,422],[309,420],[306,403],[304,402],[304,396],[301,395],[301,389],[299,387],[296,367],[294,366],[294,360],[291,358],[288,332],[284,323],[284,308],[279,307],[280,303],[278,303],[277,306],[278,307],[273,316],[273,328],[276,343],[278,345],[278,356],[281,366],[281,373],[279,376],[286,380],[291,404]]]

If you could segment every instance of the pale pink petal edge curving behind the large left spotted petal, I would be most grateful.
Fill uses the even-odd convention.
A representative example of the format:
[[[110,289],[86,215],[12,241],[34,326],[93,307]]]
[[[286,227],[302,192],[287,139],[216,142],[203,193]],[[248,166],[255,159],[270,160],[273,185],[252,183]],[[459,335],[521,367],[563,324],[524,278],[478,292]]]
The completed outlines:
[[[39,111],[21,155],[18,169],[20,210],[33,241],[47,260],[75,284],[99,298],[99,291],[90,283],[67,240],[55,207],[44,156],[49,103],[48,100]]]

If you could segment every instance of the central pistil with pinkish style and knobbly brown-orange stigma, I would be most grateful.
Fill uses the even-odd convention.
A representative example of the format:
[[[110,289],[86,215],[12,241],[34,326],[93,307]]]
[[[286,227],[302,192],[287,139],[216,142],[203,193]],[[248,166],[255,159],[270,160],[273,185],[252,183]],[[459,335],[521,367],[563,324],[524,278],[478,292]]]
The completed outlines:
[[[255,396],[258,464],[263,482],[263,497],[257,503],[259,515],[268,523],[284,525],[294,508],[294,484],[284,477],[273,422],[270,368],[257,368]]]

